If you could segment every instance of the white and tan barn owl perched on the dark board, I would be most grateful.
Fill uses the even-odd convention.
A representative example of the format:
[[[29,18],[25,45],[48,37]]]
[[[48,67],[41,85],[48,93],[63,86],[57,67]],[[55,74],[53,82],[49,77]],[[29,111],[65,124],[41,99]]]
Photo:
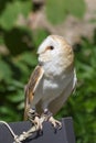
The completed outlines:
[[[40,119],[43,114],[54,128],[61,127],[53,116],[76,85],[73,48],[62,36],[50,35],[40,45],[38,55],[39,64],[25,87],[24,118],[35,114]]]

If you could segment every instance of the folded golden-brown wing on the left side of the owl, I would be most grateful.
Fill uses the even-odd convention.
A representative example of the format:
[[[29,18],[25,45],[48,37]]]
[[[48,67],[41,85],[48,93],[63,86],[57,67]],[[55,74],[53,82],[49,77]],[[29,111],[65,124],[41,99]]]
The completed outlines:
[[[43,68],[41,66],[36,66],[29,79],[28,85],[25,86],[25,89],[24,89],[24,92],[25,92],[24,119],[25,120],[28,118],[26,112],[28,112],[30,106],[32,105],[32,101],[34,98],[34,92],[43,77],[43,74],[44,74]]]

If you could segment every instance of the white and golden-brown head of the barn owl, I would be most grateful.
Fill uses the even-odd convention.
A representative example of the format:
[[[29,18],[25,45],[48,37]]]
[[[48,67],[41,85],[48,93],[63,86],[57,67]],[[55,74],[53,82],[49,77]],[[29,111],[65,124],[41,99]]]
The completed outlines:
[[[70,66],[74,61],[74,54],[72,46],[58,35],[47,36],[43,43],[41,43],[39,50],[39,63],[61,66]]]

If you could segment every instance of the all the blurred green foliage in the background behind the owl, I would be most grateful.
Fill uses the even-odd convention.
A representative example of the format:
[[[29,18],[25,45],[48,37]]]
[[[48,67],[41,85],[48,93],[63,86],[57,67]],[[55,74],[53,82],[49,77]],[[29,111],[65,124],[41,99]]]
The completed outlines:
[[[84,0],[75,0],[72,7],[73,2],[47,0],[47,19],[54,24],[61,23],[68,13],[82,19],[86,8]],[[32,7],[31,0],[0,0],[0,46],[9,51],[9,54],[0,54],[0,120],[23,120],[24,85],[38,64],[36,48],[50,34],[44,29],[34,33],[28,26],[17,24],[19,14],[26,18]],[[92,42],[83,37],[75,46],[77,89],[56,118],[72,116],[76,142],[95,143],[96,32]]]

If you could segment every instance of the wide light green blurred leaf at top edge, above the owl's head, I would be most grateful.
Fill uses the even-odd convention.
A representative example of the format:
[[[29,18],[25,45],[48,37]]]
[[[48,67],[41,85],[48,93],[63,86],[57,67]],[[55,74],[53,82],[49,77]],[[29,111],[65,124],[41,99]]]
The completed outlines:
[[[76,18],[83,18],[86,10],[84,0],[47,0],[46,1],[46,15],[53,23],[57,24],[63,22],[68,14]]]

